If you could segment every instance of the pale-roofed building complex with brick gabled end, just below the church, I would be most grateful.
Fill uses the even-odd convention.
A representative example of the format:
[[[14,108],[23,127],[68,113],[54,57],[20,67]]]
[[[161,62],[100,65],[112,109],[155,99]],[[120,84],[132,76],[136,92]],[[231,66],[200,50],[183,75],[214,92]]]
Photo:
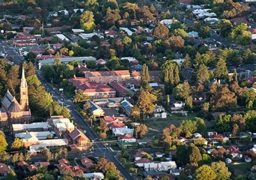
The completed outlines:
[[[90,148],[85,134],[63,116],[51,116],[47,122],[12,124],[12,134],[24,142],[31,153],[56,147],[69,147],[81,151]]]

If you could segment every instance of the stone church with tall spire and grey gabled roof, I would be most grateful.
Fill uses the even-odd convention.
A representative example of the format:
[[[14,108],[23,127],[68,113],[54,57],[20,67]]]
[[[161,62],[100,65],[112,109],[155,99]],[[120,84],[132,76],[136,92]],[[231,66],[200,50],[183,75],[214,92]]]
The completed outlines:
[[[18,102],[9,90],[4,95],[0,113],[0,127],[10,127],[11,124],[16,123],[28,123],[31,119],[28,84],[26,83],[24,67],[22,68],[20,96]]]

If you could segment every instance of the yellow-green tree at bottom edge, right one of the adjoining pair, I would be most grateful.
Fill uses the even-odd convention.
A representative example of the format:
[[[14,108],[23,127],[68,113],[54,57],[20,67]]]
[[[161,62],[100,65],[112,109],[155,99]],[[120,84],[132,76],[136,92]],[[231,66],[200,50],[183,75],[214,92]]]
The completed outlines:
[[[213,162],[211,164],[211,168],[212,170],[215,172],[216,174],[216,180],[227,180],[230,179],[231,176],[231,172],[228,171],[226,164],[222,161],[219,162]]]

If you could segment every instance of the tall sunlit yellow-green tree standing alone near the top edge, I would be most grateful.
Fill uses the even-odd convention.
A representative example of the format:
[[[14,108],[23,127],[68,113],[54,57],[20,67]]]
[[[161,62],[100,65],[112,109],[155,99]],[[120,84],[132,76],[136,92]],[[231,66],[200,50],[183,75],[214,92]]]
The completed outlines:
[[[91,32],[95,29],[95,19],[92,11],[84,11],[80,16],[80,26],[83,30]]]

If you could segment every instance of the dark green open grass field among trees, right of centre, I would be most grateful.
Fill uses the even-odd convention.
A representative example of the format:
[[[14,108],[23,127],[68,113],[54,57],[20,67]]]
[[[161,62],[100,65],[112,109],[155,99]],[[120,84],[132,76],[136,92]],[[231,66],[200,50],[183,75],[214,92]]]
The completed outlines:
[[[196,117],[197,113],[188,113],[187,116],[181,116],[179,114],[171,114],[172,116],[167,116],[166,119],[150,119],[145,120],[141,123],[145,124],[147,126],[148,132],[146,134],[146,137],[149,139],[159,139],[161,131],[170,126],[171,124],[174,124],[176,127],[179,126],[181,121],[183,120],[192,120],[194,117]],[[212,122],[205,121],[207,127],[211,127]]]

